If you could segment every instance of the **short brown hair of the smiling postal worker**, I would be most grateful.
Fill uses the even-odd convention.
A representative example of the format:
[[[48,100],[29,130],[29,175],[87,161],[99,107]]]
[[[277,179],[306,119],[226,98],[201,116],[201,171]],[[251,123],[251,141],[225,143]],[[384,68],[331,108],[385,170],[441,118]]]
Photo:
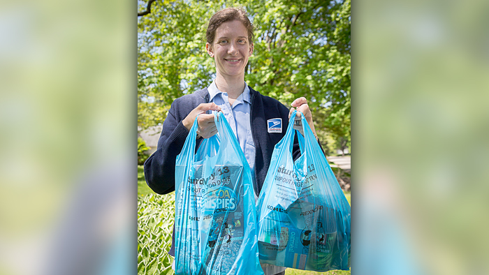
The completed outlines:
[[[207,38],[207,43],[212,45],[214,43],[214,38],[216,36],[216,29],[221,26],[224,22],[230,22],[238,20],[245,25],[248,31],[248,42],[251,45],[253,43],[253,24],[249,21],[247,12],[243,8],[224,8],[224,10],[219,10],[214,13],[209,20],[209,26],[205,32],[205,37]]]

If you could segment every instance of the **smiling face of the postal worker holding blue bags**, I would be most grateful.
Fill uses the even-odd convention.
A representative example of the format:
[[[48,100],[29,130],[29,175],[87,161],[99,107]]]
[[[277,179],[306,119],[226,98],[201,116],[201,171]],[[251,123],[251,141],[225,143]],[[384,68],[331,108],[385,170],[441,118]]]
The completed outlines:
[[[253,52],[253,45],[249,45],[248,31],[242,22],[222,23],[216,29],[214,43],[205,44],[205,48],[214,57],[218,74],[223,77],[245,77],[245,66]]]

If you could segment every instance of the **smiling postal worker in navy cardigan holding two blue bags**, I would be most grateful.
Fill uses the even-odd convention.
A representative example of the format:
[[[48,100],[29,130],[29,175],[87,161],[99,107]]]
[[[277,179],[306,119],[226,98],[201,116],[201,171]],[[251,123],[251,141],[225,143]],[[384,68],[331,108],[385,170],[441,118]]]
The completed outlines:
[[[251,169],[256,199],[268,172],[275,144],[284,137],[294,107],[305,116],[307,124],[316,135],[312,113],[306,98],[295,99],[289,110],[279,101],[262,96],[246,84],[245,68],[253,54],[254,34],[253,24],[245,10],[225,8],[212,15],[206,37],[205,49],[214,59],[216,78],[209,87],[173,101],[163,123],[158,149],[145,162],[145,179],[156,193],[175,191],[175,160],[182,151],[191,126],[197,121],[195,138],[198,147],[201,137],[209,138],[217,134],[212,112],[221,111]],[[295,139],[293,158],[299,156],[300,148]],[[168,253],[175,255],[174,241]],[[266,275],[284,274],[285,270],[285,267],[268,264],[261,267]],[[257,271],[257,274],[261,273]]]

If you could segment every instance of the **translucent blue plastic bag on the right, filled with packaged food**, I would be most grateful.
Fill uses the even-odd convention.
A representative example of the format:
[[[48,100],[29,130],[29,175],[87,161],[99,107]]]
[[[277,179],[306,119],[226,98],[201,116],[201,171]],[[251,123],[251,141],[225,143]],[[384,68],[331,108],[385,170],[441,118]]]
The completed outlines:
[[[350,267],[350,205],[302,115],[301,156],[292,158],[294,111],[275,145],[258,197],[262,262],[326,272]]]

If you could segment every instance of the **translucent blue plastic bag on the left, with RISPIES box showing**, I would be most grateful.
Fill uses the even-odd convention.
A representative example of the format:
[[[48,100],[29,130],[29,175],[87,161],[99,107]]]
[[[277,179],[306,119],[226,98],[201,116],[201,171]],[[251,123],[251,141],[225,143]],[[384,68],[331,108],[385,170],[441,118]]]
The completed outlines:
[[[251,172],[222,112],[196,147],[197,119],[175,167],[175,274],[263,274]]]

